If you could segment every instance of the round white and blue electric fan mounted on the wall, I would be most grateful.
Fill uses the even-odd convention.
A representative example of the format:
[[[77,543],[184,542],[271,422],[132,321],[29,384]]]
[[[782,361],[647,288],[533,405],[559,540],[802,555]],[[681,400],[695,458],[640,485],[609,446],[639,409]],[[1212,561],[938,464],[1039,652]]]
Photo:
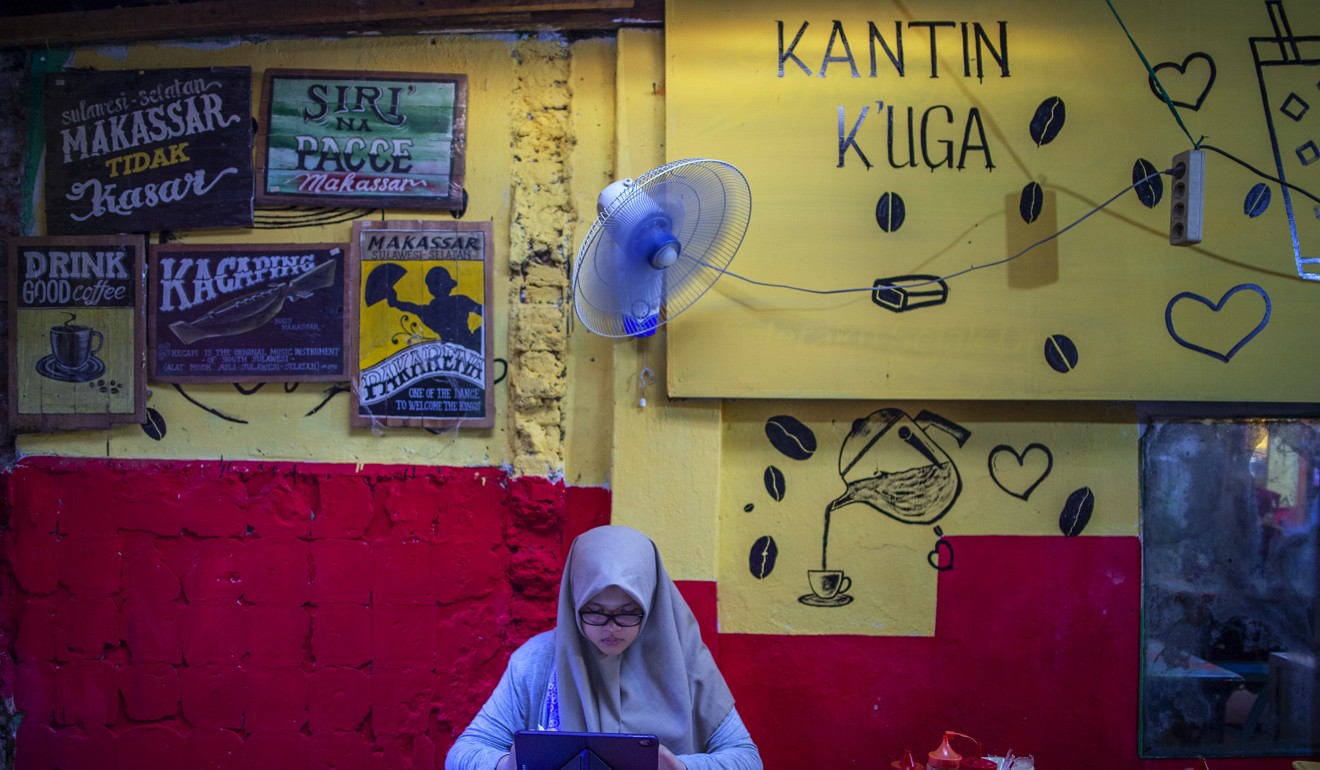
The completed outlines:
[[[686,310],[733,262],[751,218],[747,178],[727,162],[677,160],[611,184],[573,271],[587,329],[643,337]]]

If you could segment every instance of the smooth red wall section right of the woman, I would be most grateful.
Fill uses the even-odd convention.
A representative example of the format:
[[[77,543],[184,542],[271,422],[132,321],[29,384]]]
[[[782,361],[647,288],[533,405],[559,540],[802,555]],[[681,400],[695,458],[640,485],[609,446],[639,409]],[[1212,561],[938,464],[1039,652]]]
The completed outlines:
[[[940,573],[932,638],[721,637],[721,670],[767,767],[888,767],[956,730],[1041,770],[1201,770],[1137,758],[1137,538],[949,540],[957,563]]]

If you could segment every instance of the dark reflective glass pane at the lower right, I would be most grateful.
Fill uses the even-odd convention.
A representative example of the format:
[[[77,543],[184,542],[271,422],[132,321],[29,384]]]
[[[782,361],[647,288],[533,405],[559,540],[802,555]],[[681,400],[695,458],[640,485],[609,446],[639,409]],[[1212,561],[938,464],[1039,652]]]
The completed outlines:
[[[1320,420],[1142,437],[1142,754],[1320,752]]]

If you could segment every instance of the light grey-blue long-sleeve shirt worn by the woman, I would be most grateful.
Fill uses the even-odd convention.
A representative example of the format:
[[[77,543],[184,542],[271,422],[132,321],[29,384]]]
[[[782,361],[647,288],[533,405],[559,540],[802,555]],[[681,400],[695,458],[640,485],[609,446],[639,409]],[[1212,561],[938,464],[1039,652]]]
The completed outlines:
[[[515,650],[495,692],[445,757],[445,770],[494,770],[515,732],[543,726],[541,701],[553,668],[554,631]],[[762,770],[760,752],[737,708],[715,728],[704,754],[678,754],[678,759],[688,770]]]

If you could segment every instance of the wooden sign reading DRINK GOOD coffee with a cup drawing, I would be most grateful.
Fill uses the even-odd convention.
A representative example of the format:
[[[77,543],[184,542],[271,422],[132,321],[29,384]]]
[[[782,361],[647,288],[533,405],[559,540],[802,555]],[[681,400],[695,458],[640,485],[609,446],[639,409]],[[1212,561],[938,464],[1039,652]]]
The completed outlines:
[[[9,242],[9,423],[147,419],[145,280],[136,235]]]

